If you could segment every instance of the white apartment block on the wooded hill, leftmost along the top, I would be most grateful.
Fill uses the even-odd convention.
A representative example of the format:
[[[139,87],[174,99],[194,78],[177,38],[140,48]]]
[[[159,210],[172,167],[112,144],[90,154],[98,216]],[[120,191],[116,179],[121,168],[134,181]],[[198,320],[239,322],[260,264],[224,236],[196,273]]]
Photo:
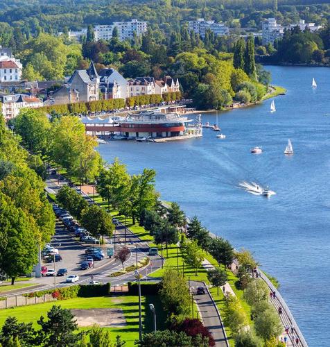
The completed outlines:
[[[109,25],[97,25],[94,28],[95,40],[110,40],[114,27],[118,29],[119,40],[132,39],[134,32],[138,36],[143,35],[148,30],[147,22],[139,22],[137,19],[132,19],[130,22],[114,22]]]

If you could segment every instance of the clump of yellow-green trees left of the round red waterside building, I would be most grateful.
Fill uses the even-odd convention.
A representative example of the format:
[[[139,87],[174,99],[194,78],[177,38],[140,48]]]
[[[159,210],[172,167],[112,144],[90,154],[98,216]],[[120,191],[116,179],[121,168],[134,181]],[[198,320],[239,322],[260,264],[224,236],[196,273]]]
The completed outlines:
[[[41,153],[80,181],[92,181],[103,162],[95,151],[98,143],[85,134],[85,126],[73,115],[49,119],[41,110],[21,110],[12,121],[28,151]]]

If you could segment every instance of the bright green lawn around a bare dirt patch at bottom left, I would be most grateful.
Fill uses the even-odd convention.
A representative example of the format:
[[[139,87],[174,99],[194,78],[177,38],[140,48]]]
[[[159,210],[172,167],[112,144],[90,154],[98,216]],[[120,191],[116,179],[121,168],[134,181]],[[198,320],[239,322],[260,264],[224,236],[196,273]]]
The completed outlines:
[[[110,330],[112,341],[116,335],[126,341],[125,346],[134,346],[134,340],[139,338],[139,297],[138,296],[103,296],[100,298],[74,298],[70,300],[58,301],[56,305],[68,309],[90,309],[90,308],[121,308],[125,316],[127,325],[123,328],[106,328]],[[142,323],[144,332],[153,330],[153,314],[150,312],[149,304],[153,303],[157,312],[157,326],[159,329],[165,328],[165,313],[159,302],[158,296],[142,296]],[[40,316],[46,316],[54,303],[42,303],[38,305],[28,305],[0,310],[0,326],[8,316],[16,316],[19,321],[33,322],[35,328],[40,328],[37,320]],[[81,330],[87,330],[82,328]]]

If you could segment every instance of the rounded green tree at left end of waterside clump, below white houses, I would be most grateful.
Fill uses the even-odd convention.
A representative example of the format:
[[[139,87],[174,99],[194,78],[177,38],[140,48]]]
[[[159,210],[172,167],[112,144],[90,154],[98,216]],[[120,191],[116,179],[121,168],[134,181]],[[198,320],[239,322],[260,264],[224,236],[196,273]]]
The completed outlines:
[[[44,112],[25,109],[14,119],[15,132],[21,135],[29,151],[46,154],[49,148],[51,123]]]

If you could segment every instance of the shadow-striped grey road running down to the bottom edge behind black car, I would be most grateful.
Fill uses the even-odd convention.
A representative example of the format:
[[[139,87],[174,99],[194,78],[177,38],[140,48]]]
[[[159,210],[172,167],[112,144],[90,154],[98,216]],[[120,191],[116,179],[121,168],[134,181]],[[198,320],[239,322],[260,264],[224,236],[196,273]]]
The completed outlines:
[[[205,287],[203,282],[190,281],[190,289],[193,294],[196,294],[197,287]],[[214,341],[216,341],[217,347],[227,347],[229,346],[227,339],[225,337],[225,330],[223,324],[220,321],[218,312],[212,301],[211,294],[207,291],[205,287],[206,294],[194,295],[195,301],[200,310],[200,315],[202,316],[202,321],[204,325],[209,328]]]

